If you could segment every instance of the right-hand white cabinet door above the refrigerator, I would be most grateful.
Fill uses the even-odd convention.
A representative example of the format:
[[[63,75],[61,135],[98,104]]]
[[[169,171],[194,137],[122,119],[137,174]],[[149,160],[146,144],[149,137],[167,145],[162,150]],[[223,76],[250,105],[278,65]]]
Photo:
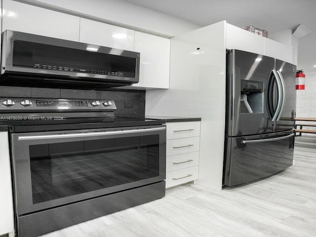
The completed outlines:
[[[265,38],[264,55],[273,57],[288,63],[293,63],[293,49],[291,46]]]

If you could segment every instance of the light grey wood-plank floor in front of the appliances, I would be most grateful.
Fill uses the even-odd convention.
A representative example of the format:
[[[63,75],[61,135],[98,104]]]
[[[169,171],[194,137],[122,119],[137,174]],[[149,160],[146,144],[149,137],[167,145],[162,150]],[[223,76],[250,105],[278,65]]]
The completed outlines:
[[[296,137],[295,165],[214,192],[187,184],[166,197],[42,237],[316,237],[316,137]]]

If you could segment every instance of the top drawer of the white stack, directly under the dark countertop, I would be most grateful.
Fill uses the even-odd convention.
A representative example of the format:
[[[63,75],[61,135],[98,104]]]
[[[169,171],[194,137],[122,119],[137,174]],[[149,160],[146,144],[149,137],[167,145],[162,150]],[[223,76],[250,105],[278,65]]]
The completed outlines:
[[[167,140],[199,136],[200,122],[170,122],[167,123]]]

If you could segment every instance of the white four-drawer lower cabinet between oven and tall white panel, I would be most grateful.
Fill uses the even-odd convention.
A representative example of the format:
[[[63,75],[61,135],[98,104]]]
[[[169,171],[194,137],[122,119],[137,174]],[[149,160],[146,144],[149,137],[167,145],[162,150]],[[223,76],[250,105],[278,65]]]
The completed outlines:
[[[167,122],[166,188],[197,180],[200,122]]]

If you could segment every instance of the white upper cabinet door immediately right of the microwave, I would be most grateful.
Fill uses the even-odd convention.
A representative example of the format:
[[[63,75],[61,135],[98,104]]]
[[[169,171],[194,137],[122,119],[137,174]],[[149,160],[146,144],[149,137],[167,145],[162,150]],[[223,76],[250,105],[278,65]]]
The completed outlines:
[[[134,49],[140,52],[140,73],[133,86],[168,89],[170,40],[136,31]]]

